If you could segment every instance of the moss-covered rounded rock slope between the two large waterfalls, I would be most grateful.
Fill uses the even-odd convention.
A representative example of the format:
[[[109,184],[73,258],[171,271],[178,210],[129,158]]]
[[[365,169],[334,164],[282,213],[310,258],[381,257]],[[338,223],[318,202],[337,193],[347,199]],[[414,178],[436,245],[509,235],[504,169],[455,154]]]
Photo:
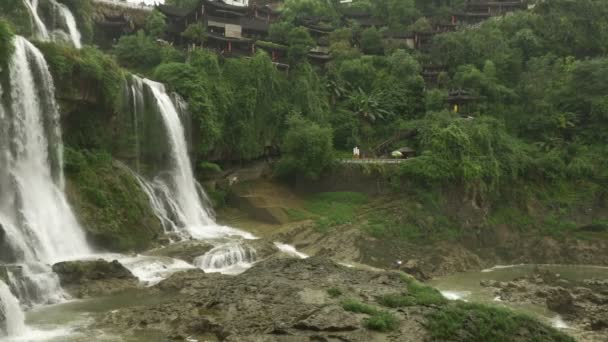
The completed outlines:
[[[111,251],[141,251],[163,234],[132,173],[104,152],[66,149],[67,194],[89,240]]]

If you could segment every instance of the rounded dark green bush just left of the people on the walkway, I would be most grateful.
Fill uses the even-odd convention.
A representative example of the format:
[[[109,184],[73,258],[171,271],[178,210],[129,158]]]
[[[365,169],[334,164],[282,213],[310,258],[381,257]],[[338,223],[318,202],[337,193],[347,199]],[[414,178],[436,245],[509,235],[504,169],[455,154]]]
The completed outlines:
[[[310,179],[319,178],[333,161],[331,128],[322,127],[300,115],[289,117],[287,127],[277,173],[283,177],[302,175]]]

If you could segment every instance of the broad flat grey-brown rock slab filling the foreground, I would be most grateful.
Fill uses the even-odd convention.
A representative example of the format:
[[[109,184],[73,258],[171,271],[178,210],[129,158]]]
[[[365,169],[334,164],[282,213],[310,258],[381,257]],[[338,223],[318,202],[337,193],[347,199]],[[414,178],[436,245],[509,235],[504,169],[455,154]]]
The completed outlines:
[[[177,292],[175,300],[124,308],[107,314],[100,324],[124,331],[160,330],[180,338],[204,332],[222,341],[364,342],[373,339],[363,317],[344,311],[341,301],[355,298],[377,306],[379,296],[404,286],[407,282],[397,272],[347,268],[318,257],[269,258],[237,276],[176,273],[151,289],[160,295]],[[332,288],[342,295],[331,297]],[[414,337],[423,340],[424,332]]]

